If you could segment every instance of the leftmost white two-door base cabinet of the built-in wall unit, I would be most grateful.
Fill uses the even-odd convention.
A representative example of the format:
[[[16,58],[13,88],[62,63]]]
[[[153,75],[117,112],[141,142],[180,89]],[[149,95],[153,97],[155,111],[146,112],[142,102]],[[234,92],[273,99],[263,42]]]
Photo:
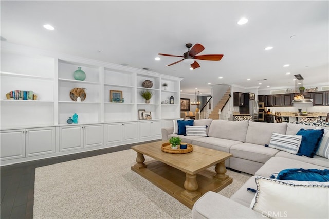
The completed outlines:
[[[55,128],[4,130],[0,133],[1,160],[55,153]]]

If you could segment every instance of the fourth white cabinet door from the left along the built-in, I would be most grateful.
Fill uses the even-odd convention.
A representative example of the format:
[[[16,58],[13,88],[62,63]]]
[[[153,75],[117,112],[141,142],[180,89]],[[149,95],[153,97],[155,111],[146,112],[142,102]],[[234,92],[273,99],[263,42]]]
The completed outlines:
[[[94,147],[104,144],[104,126],[103,124],[83,126],[84,147]]]

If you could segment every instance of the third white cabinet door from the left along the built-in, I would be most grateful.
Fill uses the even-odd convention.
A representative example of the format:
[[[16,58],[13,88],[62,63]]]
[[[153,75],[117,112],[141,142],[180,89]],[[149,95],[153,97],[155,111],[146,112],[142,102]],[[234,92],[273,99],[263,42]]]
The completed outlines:
[[[82,126],[60,127],[60,151],[83,148]]]

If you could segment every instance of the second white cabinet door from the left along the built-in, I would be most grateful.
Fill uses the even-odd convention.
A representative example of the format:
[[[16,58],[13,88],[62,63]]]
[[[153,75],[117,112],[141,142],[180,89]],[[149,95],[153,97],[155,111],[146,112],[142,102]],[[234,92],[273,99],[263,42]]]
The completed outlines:
[[[26,156],[36,156],[55,152],[55,128],[26,129]]]

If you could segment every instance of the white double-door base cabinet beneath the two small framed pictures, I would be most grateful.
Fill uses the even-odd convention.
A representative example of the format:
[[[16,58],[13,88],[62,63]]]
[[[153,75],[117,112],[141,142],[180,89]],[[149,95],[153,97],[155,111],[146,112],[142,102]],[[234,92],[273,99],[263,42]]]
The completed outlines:
[[[161,138],[161,121],[139,122],[139,138]]]

